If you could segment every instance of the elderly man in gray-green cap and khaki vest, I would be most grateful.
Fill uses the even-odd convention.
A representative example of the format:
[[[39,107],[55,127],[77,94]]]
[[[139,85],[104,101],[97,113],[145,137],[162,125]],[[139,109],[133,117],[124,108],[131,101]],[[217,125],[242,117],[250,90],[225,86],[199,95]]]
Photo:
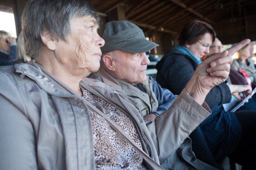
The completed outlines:
[[[149,60],[145,52],[158,45],[148,41],[142,30],[128,21],[108,22],[100,36],[106,43],[105,46],[101,47],[103,53],[101,67],[93,74],[93,78],[108,84],[125,96],[137,107],[141,116],[144,117],[145,123],[152,126],[150,123],[168,110],[177,98],[177,95],[161,88],[151,76],[146,75]],[[175,120],[173,120],[173,124],[176,124],[177,127],[175,133],[184,133],[181,130],[184,128],[181,127],[182,125],[177,124]],[[154,125],[157,126],[157,124]],[[165,131],[163,135],[170,135],[169,133],[169,131]],[[157,140],[156,136],[152,136],[152,138]],[[166,144],[165,147],[168,152],[167,148],[172,147],[169,146],[172,141],[162,142]],[[174,166],[177,169],[215,169],[213,166],[221,169],[214,161],[209,149],[206,151],[208,153],[205,153],[205,156],[208,154],[210,157],[207,158],[208,164],[196,159],[192,151],[191,139],[188,137],[177,149],[177,152],[169,153],[169,156],[172,156],[165,160],[162,159],[160,163],[165,169]],[[161,153],[159,153],[159,159],[161,160]]]

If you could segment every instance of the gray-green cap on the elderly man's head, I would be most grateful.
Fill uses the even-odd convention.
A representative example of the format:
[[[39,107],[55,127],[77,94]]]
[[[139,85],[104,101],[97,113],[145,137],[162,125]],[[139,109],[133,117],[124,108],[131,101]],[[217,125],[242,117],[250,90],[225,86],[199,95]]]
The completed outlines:
[[[110,21],[100,33],[105,40],[101,52],[108,53],[114,50],[122,50],[129,53],[145,53],[158,44],[145,38],[143,31],[129,21]]]

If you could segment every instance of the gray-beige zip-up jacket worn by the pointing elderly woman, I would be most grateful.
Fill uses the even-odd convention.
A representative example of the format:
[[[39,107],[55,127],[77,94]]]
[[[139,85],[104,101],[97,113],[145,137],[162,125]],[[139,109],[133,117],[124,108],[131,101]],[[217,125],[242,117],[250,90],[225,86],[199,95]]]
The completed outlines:
[[[0,68],[1,169],[95,169],[88,113],[93,108],[44,68],[28,63]],[[87,78],[80,84],[132,117],[143,150],[157,163],[210,114],[206,103],[202,107],[183,90],[147,128],[137,109],[114,89]]]

